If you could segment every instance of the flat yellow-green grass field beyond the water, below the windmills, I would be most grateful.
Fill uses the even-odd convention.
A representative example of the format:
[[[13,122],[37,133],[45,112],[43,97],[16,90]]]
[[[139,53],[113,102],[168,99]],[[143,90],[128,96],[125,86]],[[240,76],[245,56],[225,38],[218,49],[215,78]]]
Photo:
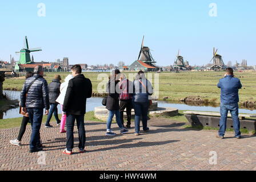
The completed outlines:
[[[126,73],[129,74],[129,72]],[[63,79],[67,74],[59,73]],[[93,92],[97,93],[98,84],[101,82],[97,80],[99,73],[86,72],[84,74],[90,78]],[[45,73],[45,75],[46,80],[50,83],[55,73]],[[180,101],[187,96],[200,96],[205,103],[219,104],[220,90],[217,88],[217,84],[223,75],[224,72],[159,73],[159,100],[168,97],[166,100]],[[235,76],[241,80],[243,85],[239,92],[241,102],[256,102],[256,72],[235,72]],[[23,82],[24,78],[7,78],[3,83],[3,89],[21,90]],[[153,76],[153,86],[157,88],[154,84]]]

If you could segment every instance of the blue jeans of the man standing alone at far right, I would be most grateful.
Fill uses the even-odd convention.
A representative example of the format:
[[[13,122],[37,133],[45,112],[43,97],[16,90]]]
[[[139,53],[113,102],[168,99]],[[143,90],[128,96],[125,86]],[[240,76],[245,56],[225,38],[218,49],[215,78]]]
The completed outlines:
[[[235,130],[235,137],[240,137],[240,121],[238,117],[238,104],[221,104],[221,119],[219,121],[219,136],[223,137],[227,125],[227,113],[230,111],[233,119],[233,126]]]

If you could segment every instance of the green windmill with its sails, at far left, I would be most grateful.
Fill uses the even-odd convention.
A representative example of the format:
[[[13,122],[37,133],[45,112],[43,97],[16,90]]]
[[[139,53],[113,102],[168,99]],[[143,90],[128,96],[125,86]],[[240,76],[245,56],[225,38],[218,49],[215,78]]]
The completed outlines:
[[[37,52],[37,51],[42,51],[41,47],[29,48],[29,43],[27,42],[27,36],[25,36],[23,49],[21,49],[21,51],[19,52],[15,52],[15,53],[20,53],[19,61],[17,62],[17,64],[33,63],[33,61],[31,61],[30,59],[30,52]]]

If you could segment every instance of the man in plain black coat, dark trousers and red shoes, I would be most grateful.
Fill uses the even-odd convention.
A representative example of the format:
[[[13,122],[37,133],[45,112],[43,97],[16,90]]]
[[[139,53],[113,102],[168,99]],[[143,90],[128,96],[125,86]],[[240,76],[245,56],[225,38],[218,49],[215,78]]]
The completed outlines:
[[[74,148],[74,123],[77,120],[79,133],[79,152],[85,152],[85,112],[86,98],[91,97],[91,81],[82,75],[81,65],[71,68],[73,79],[69,81],[63,104],[63,113],[67,115],[67,143],[64,154],[71,155]]]

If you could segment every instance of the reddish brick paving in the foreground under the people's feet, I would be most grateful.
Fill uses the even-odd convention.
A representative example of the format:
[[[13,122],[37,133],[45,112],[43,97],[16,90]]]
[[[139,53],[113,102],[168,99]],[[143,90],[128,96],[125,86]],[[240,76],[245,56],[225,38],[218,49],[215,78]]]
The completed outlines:
[[[126,135],[105,136],[105,124],[86,122],[85,154],[63,155],[65,134],[58,128],[41,129],[46,164],[42,157],[30,154],[27,129],[23,146],[9,143],[18,128],[0,130],[0,170],[256,170],[256,138],[245,136],[215,138],[215,131],[181,129],[185,123],[169,119],[151,119],[150,133],[135,136],[134,129]],[[113,129],[118,131],[117,124]],[[75,147],[78,145],[75,133]],[[209,164],[210,151],[217,153],[217,165]],[[40,154],[40,153],[39,153]],[[42,160],[41,160],[42,162]]]

